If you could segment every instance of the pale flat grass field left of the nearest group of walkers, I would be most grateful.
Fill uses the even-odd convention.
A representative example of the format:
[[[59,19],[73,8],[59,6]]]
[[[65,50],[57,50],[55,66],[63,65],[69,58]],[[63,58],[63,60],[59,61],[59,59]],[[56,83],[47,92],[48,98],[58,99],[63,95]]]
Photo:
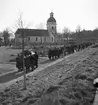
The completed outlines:
[[[16,70],[15,58],[20,51],[19,49],[11,49],[5,46],[0,47],[0,75]]]

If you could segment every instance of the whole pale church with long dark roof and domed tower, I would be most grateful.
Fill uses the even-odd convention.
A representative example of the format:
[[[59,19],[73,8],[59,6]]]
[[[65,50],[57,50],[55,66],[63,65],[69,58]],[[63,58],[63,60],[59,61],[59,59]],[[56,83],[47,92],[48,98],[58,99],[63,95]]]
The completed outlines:
[[[53,15],[53,12],[51,12],[46,24],[47,29],[17,29],[15,32],[15,44],[20,45],[22,43],[22,35],[24,35],[25,44],[55,43],[57,24]]]

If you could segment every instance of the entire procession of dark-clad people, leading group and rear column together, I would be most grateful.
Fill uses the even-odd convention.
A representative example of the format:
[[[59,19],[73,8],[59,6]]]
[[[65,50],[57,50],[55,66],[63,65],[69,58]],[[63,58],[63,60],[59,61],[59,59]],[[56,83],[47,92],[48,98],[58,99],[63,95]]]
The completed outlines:
[[[51,59],[57,59],[61,55],[68,55],[72,54],[74,52],[77,52],[79,50],[82,50],[86,47],[91,45],[91,43],[83,43],[79,45],[68,45],[68,46],[50,46],[47,49],[47,56],[49,60]],[[43,51],[44,52],[44,51]],[[45,55],[45,54],[44,54]],[[33,50],[25,50],[24,51],[24,69],[26,72],[33,71],[35,68],[38,67],[38,58],[40,56],[40,53],[37,53]],[[19,53],[16,57],[16,67],[18,68],[18,71],[23,70],[23,53]]]

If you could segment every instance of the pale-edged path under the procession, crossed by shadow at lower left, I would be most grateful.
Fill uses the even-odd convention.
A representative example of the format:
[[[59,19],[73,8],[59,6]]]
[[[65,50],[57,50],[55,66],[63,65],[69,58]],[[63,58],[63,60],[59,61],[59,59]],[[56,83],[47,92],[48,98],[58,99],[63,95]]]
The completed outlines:
[[[54,65],[57,62],[62,61],[63,58],[57,59],[57,60],[43,60],[40,62],[39,67],[35,69],[33,72],[29,72],[26,74],[28,75],[33,75],[34,73],[37,73],[51,65]],[[23,79],[23,72],[17,72],[17,70],[14,70],[13,72],[5,73],[0,76],[0,91],[4,90],[6,86],[9,86],[10,84],[14,83],[15,81]]]

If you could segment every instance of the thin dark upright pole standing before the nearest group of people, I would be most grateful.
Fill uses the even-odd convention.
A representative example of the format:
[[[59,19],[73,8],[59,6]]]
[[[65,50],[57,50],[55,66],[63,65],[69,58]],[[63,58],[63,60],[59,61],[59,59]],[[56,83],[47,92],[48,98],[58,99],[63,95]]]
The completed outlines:
[[[25,36],[25,32],[23,32],[22,34],[22,58],[23,58],[24,90],[26,90],[26,72],[25,72],[25,61],[24,61],[24,36]]]

